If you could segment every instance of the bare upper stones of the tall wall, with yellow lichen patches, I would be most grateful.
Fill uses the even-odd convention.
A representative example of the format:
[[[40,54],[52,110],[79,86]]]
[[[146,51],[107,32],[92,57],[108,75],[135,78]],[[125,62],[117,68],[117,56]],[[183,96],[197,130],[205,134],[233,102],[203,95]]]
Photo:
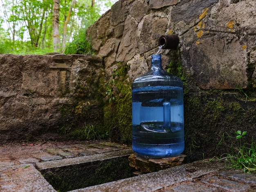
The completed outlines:
[[[176,34],[176,54],[199,88],[246,88],[255,79],[255,9],[254,0],[119,0],[87,34],[108,75],[115,62],[124,62],[136,71],[128,71],[131,80],[140,76],[150,67],[159,36]],[[163,54],[171,57],[170,51]]]

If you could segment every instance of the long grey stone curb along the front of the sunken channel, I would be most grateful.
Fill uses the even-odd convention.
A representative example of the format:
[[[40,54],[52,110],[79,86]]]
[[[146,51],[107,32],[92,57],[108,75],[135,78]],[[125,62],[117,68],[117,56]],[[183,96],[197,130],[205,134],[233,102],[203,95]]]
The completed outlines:
[[[180,184],[184,181],[191,181],[194,178],[204,176],[206,174],[225,168],[225,163],[219,161],[195,161],[180,166],[171,167],[158,172],[143,174],[140,176],[121,179],[101,185],[73,190],[72,192],[106,192],[106,191],[140,191],[140,192],[159,192],[167,186]],[[193,170],[191,172],[190,170]],[[213,190],[211,190],[213,191]]]

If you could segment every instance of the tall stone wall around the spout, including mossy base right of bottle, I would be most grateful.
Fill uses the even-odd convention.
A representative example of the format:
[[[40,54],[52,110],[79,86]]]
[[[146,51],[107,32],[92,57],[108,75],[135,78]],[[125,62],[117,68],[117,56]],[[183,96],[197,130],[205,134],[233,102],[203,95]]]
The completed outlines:
[[[255,0],[119,0],[86,34],[109,78],[127,67],[126,83],[150,69],[160,36],[179,36],[162,63],[184,82],[184,153],[194,161],[230,152],[222,139],[236,130],[249,143],[256,134],[255,10]]]

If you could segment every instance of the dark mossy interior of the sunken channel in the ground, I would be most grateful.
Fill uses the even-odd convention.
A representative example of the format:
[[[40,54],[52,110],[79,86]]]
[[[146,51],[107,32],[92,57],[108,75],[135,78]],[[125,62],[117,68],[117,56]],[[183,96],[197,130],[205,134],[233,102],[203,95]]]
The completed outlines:
[[[66,192],[132,177],[128,156],[41,170],[57,191]],[[86,174],[85,174],[86,173]]]

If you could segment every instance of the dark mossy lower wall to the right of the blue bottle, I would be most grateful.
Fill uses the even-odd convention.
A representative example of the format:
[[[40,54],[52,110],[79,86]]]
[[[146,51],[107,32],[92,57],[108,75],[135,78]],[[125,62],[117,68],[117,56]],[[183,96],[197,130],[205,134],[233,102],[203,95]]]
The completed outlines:
[[[236,95],[236,93],[233,93]],[[185,151],[188,161],[229,153],[236,130],[255,134],[255,103],[238,100],[225,91],[203,91],[184,96]]]

